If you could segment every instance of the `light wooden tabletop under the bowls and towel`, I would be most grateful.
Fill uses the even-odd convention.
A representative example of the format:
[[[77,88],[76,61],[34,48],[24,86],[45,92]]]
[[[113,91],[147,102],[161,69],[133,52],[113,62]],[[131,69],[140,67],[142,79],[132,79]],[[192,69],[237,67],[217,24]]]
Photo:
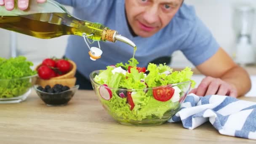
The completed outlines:
[[[243,97],[248,101],[256,98]],[[256,141],[219,134],[210,123],[151,127],[115,122],[93,91],[77,91],[69,104],[49,107],[33,91],[19,104],[0,104],[0,144],[234,144]]]

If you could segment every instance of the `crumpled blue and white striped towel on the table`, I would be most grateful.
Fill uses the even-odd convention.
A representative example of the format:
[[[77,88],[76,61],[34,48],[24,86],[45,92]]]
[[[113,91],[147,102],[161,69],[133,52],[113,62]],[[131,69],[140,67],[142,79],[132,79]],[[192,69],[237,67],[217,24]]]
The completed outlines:
[[[181,110],[168,122],[181,121],[184,128],[194,129],[210,121],[219,133],[256,139],[256,103],[229,96],[190,94]]]

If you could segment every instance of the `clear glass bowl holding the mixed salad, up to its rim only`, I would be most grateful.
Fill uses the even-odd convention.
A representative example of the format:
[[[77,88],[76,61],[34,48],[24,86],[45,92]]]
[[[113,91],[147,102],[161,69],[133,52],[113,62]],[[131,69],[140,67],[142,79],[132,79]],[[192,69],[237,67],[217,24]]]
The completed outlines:
[[[179,111],[191,82],[143,89],[109,88],[94,80],[100,71],[90,74],[99,101],[117,122],[124,125],[160,125]]]

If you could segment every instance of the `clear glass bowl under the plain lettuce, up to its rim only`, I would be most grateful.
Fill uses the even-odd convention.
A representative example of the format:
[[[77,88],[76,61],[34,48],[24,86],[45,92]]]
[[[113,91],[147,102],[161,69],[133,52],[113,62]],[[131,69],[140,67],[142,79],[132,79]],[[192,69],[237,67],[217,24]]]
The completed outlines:
[[[15,79],[0,79],[0,104],[19,103],[27,99],[37,75]]]

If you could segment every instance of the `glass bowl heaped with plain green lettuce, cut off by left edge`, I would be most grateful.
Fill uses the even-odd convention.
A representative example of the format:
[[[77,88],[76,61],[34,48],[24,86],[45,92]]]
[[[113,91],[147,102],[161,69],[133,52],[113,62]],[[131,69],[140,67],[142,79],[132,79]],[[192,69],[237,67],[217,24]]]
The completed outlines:
[[[0,58],[0,104],[19,103],[27,99],[37,72],[24,56]]]

